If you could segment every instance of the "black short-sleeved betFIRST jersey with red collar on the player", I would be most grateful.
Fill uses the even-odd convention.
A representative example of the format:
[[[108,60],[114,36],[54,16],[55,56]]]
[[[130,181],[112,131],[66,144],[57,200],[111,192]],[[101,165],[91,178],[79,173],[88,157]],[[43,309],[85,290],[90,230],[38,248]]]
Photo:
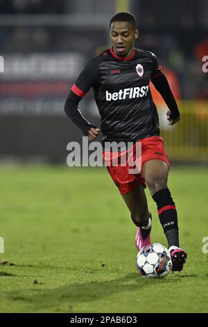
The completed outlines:
[[[149,83],[157,79],[160,70],[157,57],[150,51],[134,49],[130,57],[122,58],[111,47],[85,65],[68,99],[80,100],[93,88],[103,142],[134,142],[158,136],[159,120]],[[86,121],[83,130],[92,126]]]

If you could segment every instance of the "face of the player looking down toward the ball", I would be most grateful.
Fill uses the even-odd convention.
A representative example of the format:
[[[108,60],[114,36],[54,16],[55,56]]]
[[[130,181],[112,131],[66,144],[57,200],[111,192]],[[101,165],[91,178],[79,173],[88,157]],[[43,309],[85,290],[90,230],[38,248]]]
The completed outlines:
[[[118,56],[128,57],[133,52],[139,31],[130,22],[113,22],[110,26],[110,38],[114,52]]]

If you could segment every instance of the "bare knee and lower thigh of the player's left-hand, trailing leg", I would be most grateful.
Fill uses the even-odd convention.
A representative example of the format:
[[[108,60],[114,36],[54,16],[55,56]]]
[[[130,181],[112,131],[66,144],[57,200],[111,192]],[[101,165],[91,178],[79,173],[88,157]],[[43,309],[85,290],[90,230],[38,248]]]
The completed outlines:
[[[139,184],[137,188],[132,191],[123,194],[122,198],[131,213],[144,213],[148,211],[148,203],[142,184]]]

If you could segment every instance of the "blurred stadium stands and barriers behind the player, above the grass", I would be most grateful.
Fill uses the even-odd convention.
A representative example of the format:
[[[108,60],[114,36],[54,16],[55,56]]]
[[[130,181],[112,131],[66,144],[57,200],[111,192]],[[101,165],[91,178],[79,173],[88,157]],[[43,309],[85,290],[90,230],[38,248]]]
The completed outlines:
[[[137,47],[155,52],[182,113],[168,127],[156,90],[162,136],[170,159],[208,161],[208,55],[206,0],[0,0],[0,160],[66,163],[67,143],[82,134],[64,113],[78,72],[110,46],[108,22],[130,11],[140,31]],[[99,125],[92,92],[80,104]]]

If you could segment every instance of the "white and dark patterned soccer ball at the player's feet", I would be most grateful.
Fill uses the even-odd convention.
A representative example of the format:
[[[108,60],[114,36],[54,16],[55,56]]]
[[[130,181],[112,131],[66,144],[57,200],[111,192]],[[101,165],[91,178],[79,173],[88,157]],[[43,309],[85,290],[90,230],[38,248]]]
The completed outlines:
[[[149,244],[139,250],[137,269],[144,278],[164,278],[172,269],[171,253],[158,243]]]

